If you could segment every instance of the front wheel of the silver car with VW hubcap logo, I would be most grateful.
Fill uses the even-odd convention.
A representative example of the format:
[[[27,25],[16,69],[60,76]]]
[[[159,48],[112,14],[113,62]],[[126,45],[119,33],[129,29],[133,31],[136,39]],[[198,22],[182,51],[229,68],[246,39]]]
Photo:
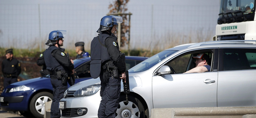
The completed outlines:
[[[145,108],[137,98],[128,95],[128,103],[126,103],[125,95],[123,95],[119,101],[116,118],[146,118]]]

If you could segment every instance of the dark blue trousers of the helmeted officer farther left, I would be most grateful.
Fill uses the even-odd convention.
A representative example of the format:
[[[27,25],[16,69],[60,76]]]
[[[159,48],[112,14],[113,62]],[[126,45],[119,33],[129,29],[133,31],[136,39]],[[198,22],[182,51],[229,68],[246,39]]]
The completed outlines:
[[[51,118],[60,118],[59,102],[60,99],[64,97],[63,94],[67,90],[68,84],[66,82],[66,84],[63,85],[61,79],[51,79],[51,83],[53,88]]]

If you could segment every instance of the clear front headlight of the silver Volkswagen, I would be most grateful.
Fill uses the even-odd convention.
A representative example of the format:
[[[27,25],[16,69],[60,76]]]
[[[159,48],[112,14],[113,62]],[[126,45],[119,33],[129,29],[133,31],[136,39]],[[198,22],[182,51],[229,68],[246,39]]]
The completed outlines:
[[[101,87],[100,84],[89,85],[76,90],[76,92],[73,95],[74,97],[83,97],[83,96],[93,95],[100,90],[100,87]]]

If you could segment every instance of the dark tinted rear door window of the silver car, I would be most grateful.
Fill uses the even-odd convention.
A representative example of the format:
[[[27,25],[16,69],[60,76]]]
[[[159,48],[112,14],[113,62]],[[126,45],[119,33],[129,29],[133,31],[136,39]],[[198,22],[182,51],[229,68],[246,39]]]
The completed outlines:
[[[256,49],[223,48],[223,70],[256,69]]]

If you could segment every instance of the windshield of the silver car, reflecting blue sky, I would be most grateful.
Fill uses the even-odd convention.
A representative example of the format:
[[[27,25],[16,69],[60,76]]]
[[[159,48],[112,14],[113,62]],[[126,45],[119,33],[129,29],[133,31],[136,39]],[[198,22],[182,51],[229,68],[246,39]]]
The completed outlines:
[[[129,69],[129,73],[142,72],[142,71],[148,70],[154,65],[156,65],[157,63],[164,60],[166,57],[172,55],[177,51],[178,50],[164,50],[156,55],[153,55],[150,58],[144,60],[143,62]]]

